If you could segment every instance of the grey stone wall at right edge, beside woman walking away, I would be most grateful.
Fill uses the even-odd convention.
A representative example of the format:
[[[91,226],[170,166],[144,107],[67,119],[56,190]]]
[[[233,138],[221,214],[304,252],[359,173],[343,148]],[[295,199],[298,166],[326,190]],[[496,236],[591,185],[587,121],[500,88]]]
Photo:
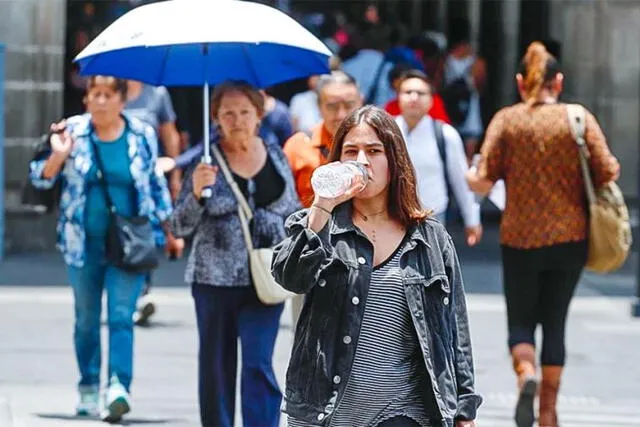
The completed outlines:
[[[620,185],[638,201],[640,1],[555,0],[551,33],[561,40],[568,100],[598,118],[620,160]]]

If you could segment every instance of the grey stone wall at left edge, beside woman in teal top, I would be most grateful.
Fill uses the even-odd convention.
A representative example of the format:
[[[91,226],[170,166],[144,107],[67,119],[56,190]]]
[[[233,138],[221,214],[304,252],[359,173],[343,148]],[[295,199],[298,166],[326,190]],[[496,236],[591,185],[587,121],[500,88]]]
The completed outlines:
[[[65,0],[0,1],[0,41],[5,69],[5,248],[50,248],[53,220],[20,209],[33,146],[61,118]]]

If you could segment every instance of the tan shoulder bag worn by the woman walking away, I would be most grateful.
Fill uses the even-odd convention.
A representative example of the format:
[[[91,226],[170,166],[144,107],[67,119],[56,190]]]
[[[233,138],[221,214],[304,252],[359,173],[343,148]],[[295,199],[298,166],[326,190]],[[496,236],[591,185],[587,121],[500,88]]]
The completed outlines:
[[[589,167],[589,148],[584,140],[585,111],[580,105],[567,105],[571,132],[578,144],[580,168],[584,178],[589,210],[588,255],[585,268],[595,273],[617,270],[631,249],[629,210],[615,182],[594,188]]]

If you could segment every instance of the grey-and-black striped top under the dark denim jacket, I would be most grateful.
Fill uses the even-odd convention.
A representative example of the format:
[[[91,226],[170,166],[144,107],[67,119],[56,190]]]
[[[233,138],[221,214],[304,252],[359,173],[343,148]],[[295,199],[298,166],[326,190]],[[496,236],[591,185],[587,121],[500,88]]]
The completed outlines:
[[[371,274],[353,367],[330,426],[377,426],[397,416],[430,426],[422,396],[429,386],[407,306],[401,248]],[[289,418],[290,427],[305,424]]]

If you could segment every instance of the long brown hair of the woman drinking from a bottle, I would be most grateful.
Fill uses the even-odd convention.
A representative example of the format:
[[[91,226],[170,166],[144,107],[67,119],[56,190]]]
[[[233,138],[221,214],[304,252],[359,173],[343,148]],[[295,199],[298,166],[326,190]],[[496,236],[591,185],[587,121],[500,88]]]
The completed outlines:
[[[427,216],[418,198],[416,172],[409,159],[407,145],[396,121],[385,111],[366,105],[351,113],[336,131],[329,154],[329,162],[339,161],[344,138],[358,125],[366,124],[374,130],[384,145],[389,163],[389,214],[405,227],[415,224]]]

